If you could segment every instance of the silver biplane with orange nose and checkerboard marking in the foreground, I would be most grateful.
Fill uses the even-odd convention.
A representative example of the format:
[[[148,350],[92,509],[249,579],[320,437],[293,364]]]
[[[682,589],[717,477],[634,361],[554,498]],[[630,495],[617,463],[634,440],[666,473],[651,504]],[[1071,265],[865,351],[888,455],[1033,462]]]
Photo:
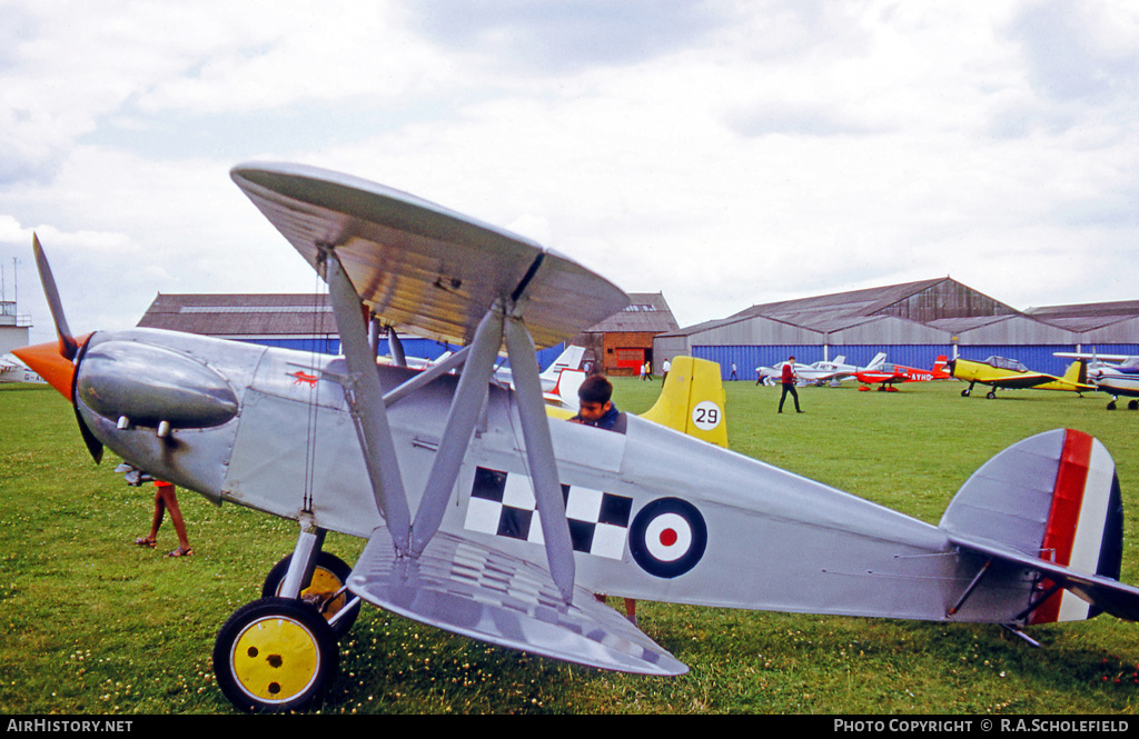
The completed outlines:
[[[355,178],[249,164],[232,179],[327,281],[343,356],[138,328],[76,337],[38,244],[59,340],[21,353],[72,402],[96,459],[106,446],[215,502],[298,522],[267,596],[215,640],[218,684],[244,709],[317,699],[361,600],[652,675],[687,667],[593,593],[1017,630],[1139,618],[1139,589],[1117,582],[1115,466],[1083,433],[999,453],[935,526],[650,419],[629,416],[623,434],[566,422],[542,402],[535,346],[621,310],[613,284]],[[423,371],[377,367],[361,303],[464,348]],[[492,383],[503,340],[514,391]],[[722,426],[695,372],[679,379],[657,419]],[[322,551],[327,531],[367,540],[354,566]],[[300,596],[331,569],[345,588],[316,599],[321,613]]]

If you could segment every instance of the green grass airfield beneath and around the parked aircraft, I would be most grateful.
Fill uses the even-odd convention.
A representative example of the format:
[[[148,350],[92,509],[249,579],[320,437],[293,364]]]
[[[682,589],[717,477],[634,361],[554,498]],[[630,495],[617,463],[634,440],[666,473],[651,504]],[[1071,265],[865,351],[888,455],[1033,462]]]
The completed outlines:
[[[623,410],[661,384],[617,379]],[[731,383],[731,446],[936,523],[992,454],[1068,426],[1115,457],[1136,509],[1139,413],[1103,397],[1008,393],[962,399],[960,384],[899,393],[800,391],[804,414],[776,414],[778,389]],[[210,654],[230,613],[260,594],[295,524],[179,498],[196,556],[166,559],[146,533],[153,488],[91,462],[54,391],[0,386],[0,713],[231,713]],[[1139,582],[1126,524],[1123,580]],[[347,561],[362,542],[330,535]],[[788,552],[794,556],[794,552]],[[794,583],[788,583],[794,586]],[[1136,625],[1108,616],[1034,629],[1033,649],[995,626],[719,610],[645,602],[642,629],[691,667],[612,674],[453,637],[364,608],[342,642],[326,713],[1134,713]]]

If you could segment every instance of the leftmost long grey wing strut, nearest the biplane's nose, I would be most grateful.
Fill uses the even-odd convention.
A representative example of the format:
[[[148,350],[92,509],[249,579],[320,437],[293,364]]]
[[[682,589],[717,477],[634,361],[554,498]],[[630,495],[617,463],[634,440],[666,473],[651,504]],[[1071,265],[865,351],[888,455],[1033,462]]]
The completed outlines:
[[[361,429],[366,449],[364,465],[371,481],[372,495],[383,514],[398,551],[409,550],[410,520],[408,498],[395,457],[395,444],[387,425],[387,409],[376,371],[376,355],[368,340],[368,330],[360,312],[360,296],[349,279],[339,258],[330,248],[322,249],[325,280],[333,301],[336,328],[341,334],[341,351],[349,366],[352,416]],[[350,389],[351,388],[351,389]]]

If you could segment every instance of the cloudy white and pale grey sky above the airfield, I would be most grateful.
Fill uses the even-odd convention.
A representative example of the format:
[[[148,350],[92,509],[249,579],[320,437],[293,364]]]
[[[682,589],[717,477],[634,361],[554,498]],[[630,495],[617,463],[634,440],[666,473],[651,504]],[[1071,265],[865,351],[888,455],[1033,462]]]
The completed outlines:
[[[0,0],[0,265],[52,336],[313,292],[229,179],[375,180],[681,325],[950,276],[1139,298],[1133,0]]]

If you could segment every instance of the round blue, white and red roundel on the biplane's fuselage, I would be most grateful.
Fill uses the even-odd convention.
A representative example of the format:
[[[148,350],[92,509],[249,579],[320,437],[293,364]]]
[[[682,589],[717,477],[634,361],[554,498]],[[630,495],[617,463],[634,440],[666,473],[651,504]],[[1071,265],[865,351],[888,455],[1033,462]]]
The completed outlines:
[[[629,550],[640,567],[657,577],[679,577],[700,560],[707,526],[696,508],[679,498],[655,500],[629,528]]]

